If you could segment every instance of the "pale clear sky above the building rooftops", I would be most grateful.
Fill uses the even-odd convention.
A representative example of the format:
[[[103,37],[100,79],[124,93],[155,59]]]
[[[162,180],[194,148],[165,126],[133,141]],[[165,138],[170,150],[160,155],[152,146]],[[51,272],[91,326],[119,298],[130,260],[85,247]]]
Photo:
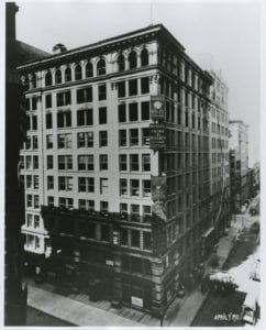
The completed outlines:
[[[16,37],[52,53],[163,23],[196,63],[210,54],[229,87],[230,119],[250,129],[250,166],[259,160],[261,7],[258,1],[16,1]]]

